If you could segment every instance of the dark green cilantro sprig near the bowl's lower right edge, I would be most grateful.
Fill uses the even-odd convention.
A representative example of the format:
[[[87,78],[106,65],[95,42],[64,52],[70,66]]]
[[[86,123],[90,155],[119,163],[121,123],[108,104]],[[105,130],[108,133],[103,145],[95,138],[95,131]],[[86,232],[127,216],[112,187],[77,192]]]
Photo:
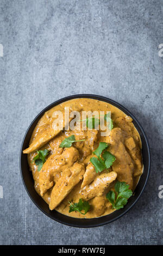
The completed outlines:
[[[133,192],[129,190],[129,185],[126,182],[117,181],[115,184],[115,191],[117,192],[117,198],[115,199],[115,192],[109,191],[106,194],[106,198],[112,204],[112,209],[121,209],[127,204],[127,200],[132,196]]]

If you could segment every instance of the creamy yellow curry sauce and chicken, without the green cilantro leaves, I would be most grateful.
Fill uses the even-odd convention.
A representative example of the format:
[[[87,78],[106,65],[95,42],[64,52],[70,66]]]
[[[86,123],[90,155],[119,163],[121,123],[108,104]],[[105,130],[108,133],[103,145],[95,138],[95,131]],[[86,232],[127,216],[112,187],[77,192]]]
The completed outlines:
[[[60,110],[64,113],[65,107],[80,113],[111,111],[114,127],[108,136],[101,136],[101,130],[95,129],[54,131],[53,112]],[[74,142],[68,149],[60,148],[60,143],[71,135],[74,135],[76,140],[85,139],[85,141]],[[90,158],[99,142],[109,143],[108,149],[116,160],[111,168],[97,174],[90,163]],[[40,172],[37,171],[35,162],[32,162],[37,154],[36,150],[39,149],[49,150],[47,161]],[[37,123],[29,148],[23,153],[28,154],[35,190],[49,204],[49,208],[76,218],[94,218],[110,214],[114,210],[106,199],[106,193],[110,189],[114,190],[117,180],[126,182],[134,191],[143,171],[141,139],[132,119],[115,106],[94,99],[69,100],[47,111]],[[107,179],[110,183],[105,186],[103,181],[106,182]],[[78,203],[80,198],[87,200],[91,205],[87,214],[68,212],[70,208],[68,202]]]

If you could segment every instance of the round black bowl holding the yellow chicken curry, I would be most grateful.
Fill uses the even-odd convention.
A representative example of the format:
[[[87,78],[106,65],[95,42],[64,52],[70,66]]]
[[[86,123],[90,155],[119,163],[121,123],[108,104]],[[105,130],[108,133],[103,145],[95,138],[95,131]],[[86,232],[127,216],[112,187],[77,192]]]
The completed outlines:
[[[91,99],[96,99],[96,100],[101,100],[105,101],[108,103],[111,103],[112,105],[120,108],[124,113],[129,115],[131,118],[133,118],[133,124],[135,125],[137,131],[140,134],[141,141],[142,141],[142,156],[143,156],[143,164],[144,164],[144,170],[143,174],[141,175],[141,178],[139,180],[139,183],[136,186],[134,196],[130,197],[128,200],[128,203],[126,206],[124,206],[123,209],[117,210],[115,212],[112,212],[112,214],[98,217],[98,218],[91,218],[91,219],[82,219],[82,218],[73,218],[73,217],[68,217],[66,215],[60,214],[59,212],[53,210],[49,210],[49,207],[47,203],[39,196],[39,194],[36,193],[34,189],[34,180],[32,176],[32,172],[29,172],[29,166],[28,166],[28,161],[27,161],[27,155],[23,154],[23,150],[28,148],[29,145],[29,140],[30,137],[32,136],[32,132],[34,130],[34,127],[37,124],[37,121],[42,117],[42,115],[51,109],[52,107],[75,98],[91,98]],[[126,108],[124,108],[122,105],[119,103],[110,100],[106,97],[103,96],[98,96],[98,95],[92,95],[92,94],[78,94],[78,95],[72,95],[68,97],[64,97],[63,99],[57,100],[45,109],[43,109],[40,114],[37,115],[37,117],[32,121],[32,123],[29,125],[27,132],[23,138],[22,146],[21,146],[21,151],[20,151],[20,169],[21,169],[21,176],[23,180],[23,184],[27,190],[27,193],[29,194],[29,197],[33,200],[34,204],[48,217],[52,218],[55,221],[58,221],[62,224],[70,225],[72,227],[78,227],[78,228],[92,228],[92,227],[98,227],[104,224],[108,224],[112,221],[117,220],[117,218],[122,217],[126,212],[128,212],[131,207],[137,202],[137,200],[140,198],[149,175],[149,169],[150,169],[150,162],[151,162],[151,157],[150,157],[150,149],[149,149],[149,144],[147,140],[147,136],[145,132],[143,131],[139,121],[136,120],[133,114],[131,114]]]

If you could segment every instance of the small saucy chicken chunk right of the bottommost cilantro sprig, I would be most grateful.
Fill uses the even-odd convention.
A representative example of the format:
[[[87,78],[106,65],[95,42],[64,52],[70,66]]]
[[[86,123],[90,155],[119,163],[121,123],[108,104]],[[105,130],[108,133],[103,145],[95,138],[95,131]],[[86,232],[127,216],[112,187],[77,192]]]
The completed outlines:
[[[104,196],[94,197],[92,199],[91,205],[93,206],[93,211],[95,212],[97,217],[104,214],[106,209],[105,203],[106,203],[106,199]]]

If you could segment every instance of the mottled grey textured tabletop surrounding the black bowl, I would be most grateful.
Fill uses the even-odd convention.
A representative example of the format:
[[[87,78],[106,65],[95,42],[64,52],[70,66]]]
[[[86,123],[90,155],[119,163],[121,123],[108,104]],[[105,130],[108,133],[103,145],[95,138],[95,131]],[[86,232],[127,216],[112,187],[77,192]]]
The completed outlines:
[[[161,0],[1,0],[0,243],[3,245],[162,244]],[[99,228],[52,221],[25,191],[19,169],[27,127],[61,97],[95,93],[130,109],[152,148],[152,169],[139,202]]]

